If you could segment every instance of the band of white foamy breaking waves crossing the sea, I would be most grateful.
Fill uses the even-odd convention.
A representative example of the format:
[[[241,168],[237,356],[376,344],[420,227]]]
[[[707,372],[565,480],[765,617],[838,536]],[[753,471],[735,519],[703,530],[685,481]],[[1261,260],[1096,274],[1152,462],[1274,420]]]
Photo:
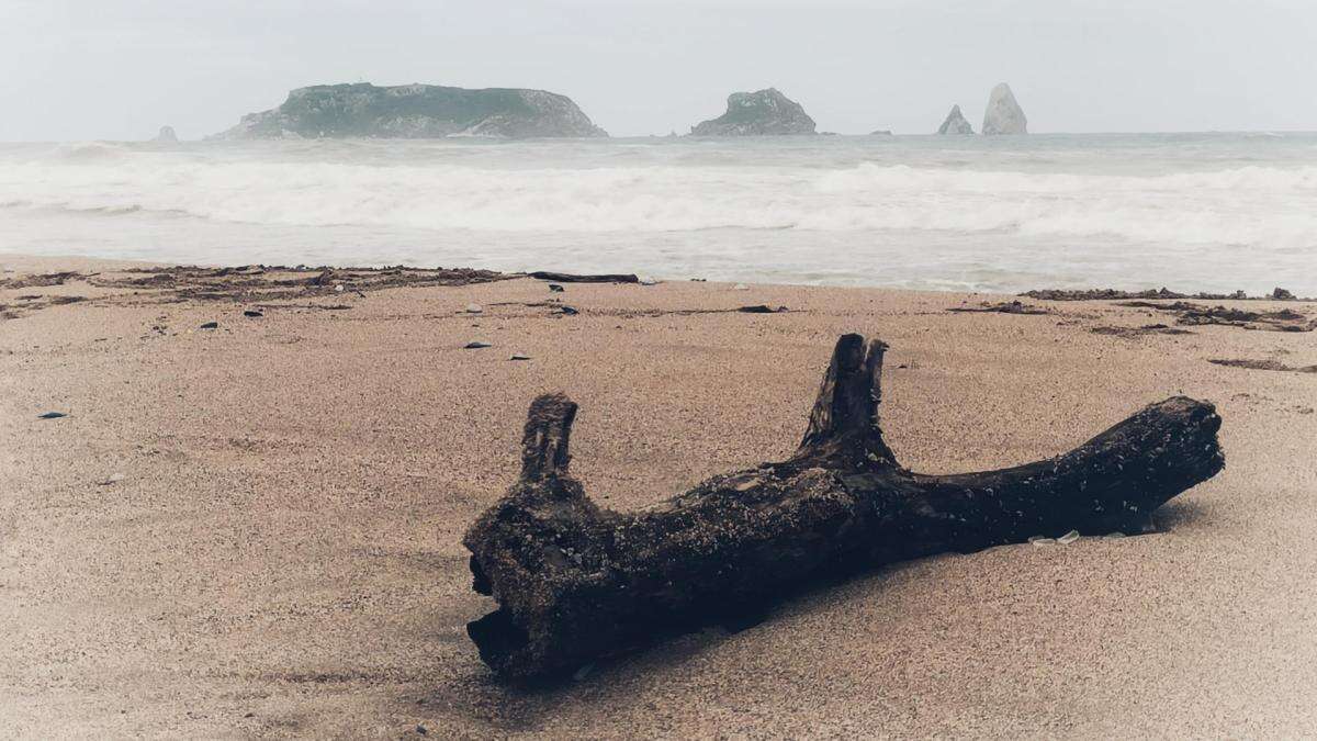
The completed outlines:
[[[279,225],[499,232],[724,228],[1313,244],[1317,166],[1152,177],[881,166],[478,169],[179,161],[79,145],[0,170],[0,206]],[[103,160],[113,166],[100,166]],[[72,163],[68,163],[68,162]]]

